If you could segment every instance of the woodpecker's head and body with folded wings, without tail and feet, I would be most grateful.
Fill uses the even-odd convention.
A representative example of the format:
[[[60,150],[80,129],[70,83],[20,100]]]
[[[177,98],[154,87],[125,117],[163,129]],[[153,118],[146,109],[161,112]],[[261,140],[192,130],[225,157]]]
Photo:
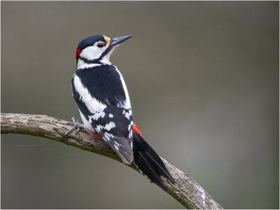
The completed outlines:
[[[114,40],[90,36],[78,45],[73,97],[87,130],[97,132],[126,164],[133,161],[132,109],[123,76],[109,62]],[[99,44],[99,45],[98,45]]]

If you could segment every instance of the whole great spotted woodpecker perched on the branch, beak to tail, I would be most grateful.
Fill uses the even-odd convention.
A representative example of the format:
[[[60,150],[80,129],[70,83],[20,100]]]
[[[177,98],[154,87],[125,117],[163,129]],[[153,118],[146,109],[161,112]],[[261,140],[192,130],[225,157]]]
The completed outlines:
[[[95,35],[78,44],[72,92],[83,125],[74,119],[73,123],[74,127],[84,127],[88,133],[104,139],[125,164],[134,162],[141,173],[166,189],[160,176],[165,176],[171,183],[174,179],[133,123],[125,80],[109,61],[116,46],[130,37]]]

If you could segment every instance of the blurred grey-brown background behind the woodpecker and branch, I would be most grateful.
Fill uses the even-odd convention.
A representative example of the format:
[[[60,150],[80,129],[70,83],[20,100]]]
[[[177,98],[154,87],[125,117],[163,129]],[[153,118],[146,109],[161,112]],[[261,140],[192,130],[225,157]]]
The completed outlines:
[[[224,208],[279,208],[279,2],[1,1],[1,112],[80,118],[75,52],[111,56],[146,141]],[[120,162],[1,135],[1,208],[181,209]]]

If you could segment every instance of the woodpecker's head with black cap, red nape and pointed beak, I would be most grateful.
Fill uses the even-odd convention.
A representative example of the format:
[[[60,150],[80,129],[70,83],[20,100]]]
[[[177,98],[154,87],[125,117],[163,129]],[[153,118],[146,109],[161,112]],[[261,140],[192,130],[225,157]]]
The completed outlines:
[[[117,45],[126,41],[132,35],[109,38],[104,35],[89,36],[78,44],[76,50],[77,63],[85,62],[87,64],[104,63],[111,64],[109,61],[111,52]]]

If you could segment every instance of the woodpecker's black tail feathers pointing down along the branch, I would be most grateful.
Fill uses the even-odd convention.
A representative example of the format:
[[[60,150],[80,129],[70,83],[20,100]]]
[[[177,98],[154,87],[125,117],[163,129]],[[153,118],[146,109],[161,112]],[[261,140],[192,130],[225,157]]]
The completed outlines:
[[[138,169],[148,176],[151,181],[157,183],[160,188],[166,190],[160,176],[165,176],[171,183],[175,183],[158,154],[137,133],[133,133],[133,155],[134,163]]]

